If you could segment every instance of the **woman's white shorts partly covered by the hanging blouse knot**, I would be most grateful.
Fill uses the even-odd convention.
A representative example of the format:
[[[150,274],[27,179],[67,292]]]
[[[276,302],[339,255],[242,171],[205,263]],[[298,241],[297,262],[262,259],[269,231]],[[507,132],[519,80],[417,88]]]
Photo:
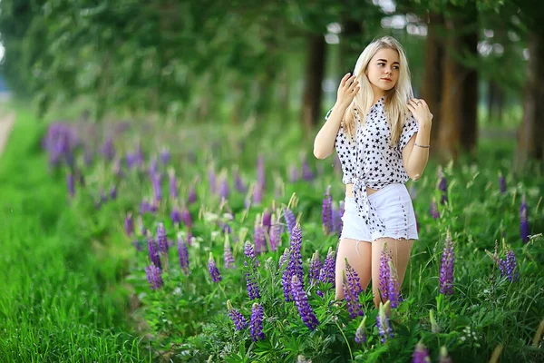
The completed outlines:
[[[368,202],[373,204],[378,212],[378,218],[383,221],[385,231],[370,232],[363,218],[357,213],[355,198],[345,197],[345,211],[342,217],[343,228],[340,239],[373,241],[379,238],[396,240],[418,240],[415,213],[412,198],[401,183],[384,186],[379,191],[368,195]]]

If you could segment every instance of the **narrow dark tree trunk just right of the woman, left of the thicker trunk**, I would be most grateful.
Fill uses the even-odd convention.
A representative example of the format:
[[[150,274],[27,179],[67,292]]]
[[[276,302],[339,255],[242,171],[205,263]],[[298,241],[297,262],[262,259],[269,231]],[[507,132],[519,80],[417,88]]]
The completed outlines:
[[[422,98],[429,105],[433,115],[431,129],[431,144],[438,145],[438,134],[442,118],[442,66],[444,62],[443,33],[444,18],[440,14],[429,15],[427,40],[425,43],[425,74],[423,75]],[[432,148],[432,152],[435,152]]]

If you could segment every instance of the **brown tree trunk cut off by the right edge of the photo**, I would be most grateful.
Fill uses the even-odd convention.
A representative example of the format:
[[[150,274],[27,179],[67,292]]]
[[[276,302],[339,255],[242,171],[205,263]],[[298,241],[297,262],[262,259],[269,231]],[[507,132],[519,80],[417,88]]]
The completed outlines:
[[[518,131],[514,170],[521,172],[529,159],[544,160],[544,34],[530,34],[527,83],[523,100],[523,120]]]

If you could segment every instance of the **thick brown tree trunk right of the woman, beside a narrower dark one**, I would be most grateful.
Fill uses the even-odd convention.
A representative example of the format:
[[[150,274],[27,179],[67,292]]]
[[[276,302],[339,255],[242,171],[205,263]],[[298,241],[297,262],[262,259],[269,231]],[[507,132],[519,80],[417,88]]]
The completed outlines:
[[[462,20],[461,20],[462,19]],[[476,52],[477,29],[467,32],[474,19],[458,16],[445,21],[449,31],[443,61],[442,104],[440,127],[436,143],[442,161],[457,159],[461,147],[476,150],[478,75],[461,64],[459,58]],[[460,36],[460,32],[466,32]],[[476,41],[475,41],[476,40]]]

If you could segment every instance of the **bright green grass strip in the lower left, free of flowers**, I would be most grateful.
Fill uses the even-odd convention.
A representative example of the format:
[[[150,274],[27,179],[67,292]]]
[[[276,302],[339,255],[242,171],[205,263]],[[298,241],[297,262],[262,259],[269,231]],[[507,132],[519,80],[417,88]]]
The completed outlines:
[[[128,332],[123,261],[94,253],[63,178],[47,170],[46,125],[17,113],[0,158],[0,361],[151,361]]]

